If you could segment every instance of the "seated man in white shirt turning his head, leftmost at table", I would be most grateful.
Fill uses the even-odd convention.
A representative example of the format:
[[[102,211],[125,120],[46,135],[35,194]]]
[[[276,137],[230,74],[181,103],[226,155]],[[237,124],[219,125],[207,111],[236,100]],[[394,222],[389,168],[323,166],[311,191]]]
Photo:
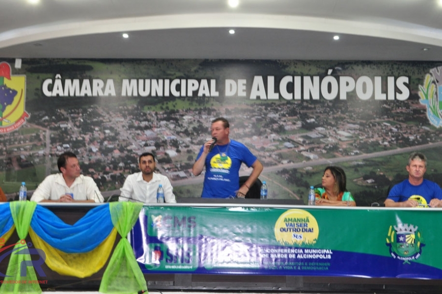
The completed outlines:
[[[38,185],[30,201],[103,202],[103,196],[94,180],[90,176],[80,174],[80,165],[73,152],[61,154],[57,166],[60,173],[47,176]]]

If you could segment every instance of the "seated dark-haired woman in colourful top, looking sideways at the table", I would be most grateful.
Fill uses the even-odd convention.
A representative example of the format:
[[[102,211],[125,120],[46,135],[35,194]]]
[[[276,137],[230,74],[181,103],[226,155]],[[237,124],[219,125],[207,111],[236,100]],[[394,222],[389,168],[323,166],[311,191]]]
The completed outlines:
[[[344,170],[328,166],[322,176],[322,187],[315,188],[316,205],[327,206],[356,206],[352,193],[345,188],[347,177]]]

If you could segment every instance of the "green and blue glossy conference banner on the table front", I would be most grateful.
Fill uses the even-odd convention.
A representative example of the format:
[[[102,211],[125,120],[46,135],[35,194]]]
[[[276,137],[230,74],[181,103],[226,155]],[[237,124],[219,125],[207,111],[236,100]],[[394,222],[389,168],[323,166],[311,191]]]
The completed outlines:
[[[442,279],[439,209],[144,206],[144,273]]]

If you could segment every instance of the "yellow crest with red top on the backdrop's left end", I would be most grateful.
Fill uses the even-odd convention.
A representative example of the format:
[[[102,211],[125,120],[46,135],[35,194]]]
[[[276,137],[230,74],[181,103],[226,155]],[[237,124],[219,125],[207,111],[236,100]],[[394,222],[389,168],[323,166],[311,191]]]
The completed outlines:
[[[11,75],[11,66],[0,62],[0,133],[9,133],[26,123],[26,76]]]

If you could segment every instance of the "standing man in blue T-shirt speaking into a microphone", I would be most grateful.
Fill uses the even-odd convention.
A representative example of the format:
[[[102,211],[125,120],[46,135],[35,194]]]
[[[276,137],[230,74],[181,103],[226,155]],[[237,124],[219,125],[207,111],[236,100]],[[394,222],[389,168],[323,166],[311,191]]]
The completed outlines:
[[[261,174],[263,166],[244,144],[229,139],[229,122],[225,118],[215,118],[211,125],[212,139],[207,141],[199,150],[193,164],[192,173],[195,176],[204,174],[202,198],[244,198],[250,186]],[[252,167],[248,180],[239,186],[239,170],[245,163]]]

